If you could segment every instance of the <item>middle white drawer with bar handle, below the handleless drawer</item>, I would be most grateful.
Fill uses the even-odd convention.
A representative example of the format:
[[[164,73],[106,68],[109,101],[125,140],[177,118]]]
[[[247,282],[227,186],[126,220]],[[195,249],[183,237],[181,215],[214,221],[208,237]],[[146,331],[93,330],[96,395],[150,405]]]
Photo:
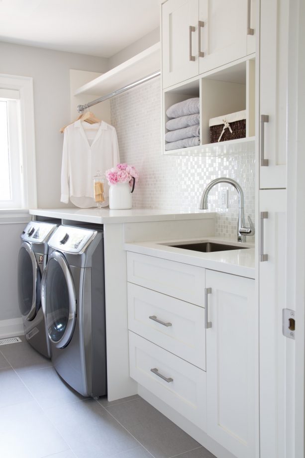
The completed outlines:
[[[133,283],[128,283],[127,293],[130,331],[205,370],[202,307]]]

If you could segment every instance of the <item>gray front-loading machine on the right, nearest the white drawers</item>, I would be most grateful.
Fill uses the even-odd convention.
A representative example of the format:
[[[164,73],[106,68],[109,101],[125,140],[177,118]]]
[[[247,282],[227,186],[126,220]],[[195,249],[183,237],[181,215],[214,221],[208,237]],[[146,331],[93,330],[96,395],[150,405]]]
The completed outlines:
[[[41,283],[52,362],[83,396],[107,392],[103,231],[59,226]]]

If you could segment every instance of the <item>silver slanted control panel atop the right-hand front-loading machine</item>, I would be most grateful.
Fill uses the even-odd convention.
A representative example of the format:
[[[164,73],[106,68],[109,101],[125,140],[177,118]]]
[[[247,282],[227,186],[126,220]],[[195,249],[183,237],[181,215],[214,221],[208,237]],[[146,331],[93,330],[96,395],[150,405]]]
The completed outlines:
[[[48,244],[51,248],[66,253],[81,254],[96,236],[93,229],[73,228],[72,226],[59,226]]]

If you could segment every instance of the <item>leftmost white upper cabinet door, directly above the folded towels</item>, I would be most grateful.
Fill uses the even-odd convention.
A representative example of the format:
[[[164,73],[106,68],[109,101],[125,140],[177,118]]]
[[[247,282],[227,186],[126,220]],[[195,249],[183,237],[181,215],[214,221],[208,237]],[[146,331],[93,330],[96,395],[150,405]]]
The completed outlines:
[[[198,0],[162,5],[163,88],[198,75]]]

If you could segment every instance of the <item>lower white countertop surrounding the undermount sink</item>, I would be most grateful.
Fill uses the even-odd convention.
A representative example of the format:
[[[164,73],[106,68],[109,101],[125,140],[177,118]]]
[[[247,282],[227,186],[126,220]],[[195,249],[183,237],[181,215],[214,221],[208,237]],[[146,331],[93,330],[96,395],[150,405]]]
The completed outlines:
[[[220,237],[204,237],[201,239],[188,239],[194,241],[215,241],[235,245],[237,242],[231,239]],[[146,254],[148,256],[160,257],[172,261],[183,262],[184,264],[196,265],[206,269],[217,270],[220,272],[239,275],[242,277],[255,278],[255,250],[254,243],[242,243],[243,246],[251,248],[234,249],[227,251],[214,251],[211,253],[201,253],[199,251],[175,248],[161,243],[183,243],[184,240],[165,240],[125,243],[126,251]]]

